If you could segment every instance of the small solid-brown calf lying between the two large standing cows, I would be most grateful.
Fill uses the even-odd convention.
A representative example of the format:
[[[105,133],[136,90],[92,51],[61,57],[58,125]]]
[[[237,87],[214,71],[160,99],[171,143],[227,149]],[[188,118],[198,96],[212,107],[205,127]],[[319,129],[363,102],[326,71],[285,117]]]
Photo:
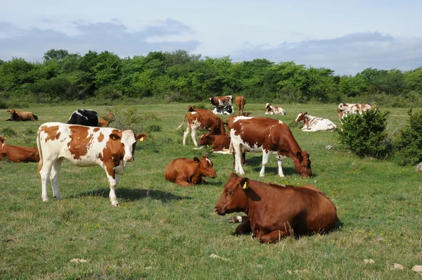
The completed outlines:
[[[195,186],[205,183],[203,177],[215,178],[217,173],[213,163],[207,156],[201,159],[177,158],[167,166],[164,177],[167,181],[175,182],[180,186]]]

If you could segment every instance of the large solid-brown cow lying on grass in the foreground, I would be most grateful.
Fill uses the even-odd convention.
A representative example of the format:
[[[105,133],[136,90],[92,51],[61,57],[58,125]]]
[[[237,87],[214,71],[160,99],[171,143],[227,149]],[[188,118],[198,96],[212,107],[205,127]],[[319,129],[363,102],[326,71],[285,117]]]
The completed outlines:
[[[231,173],[214,211],[218,215],[245,212],[248,219],[236,232],[252,232],[262,243],[286,236],[326,234],[338,223],[335,205],[316,186],[269,184],[236,173]]]

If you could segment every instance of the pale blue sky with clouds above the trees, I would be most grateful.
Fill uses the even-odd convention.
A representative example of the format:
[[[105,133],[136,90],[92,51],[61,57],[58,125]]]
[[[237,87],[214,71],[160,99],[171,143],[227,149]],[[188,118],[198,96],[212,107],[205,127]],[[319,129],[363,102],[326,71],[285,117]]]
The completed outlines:
[[[422,66],[422,1],[4,1],[0,59],[49,49],[121,57],[185,49],[354,75]]]

